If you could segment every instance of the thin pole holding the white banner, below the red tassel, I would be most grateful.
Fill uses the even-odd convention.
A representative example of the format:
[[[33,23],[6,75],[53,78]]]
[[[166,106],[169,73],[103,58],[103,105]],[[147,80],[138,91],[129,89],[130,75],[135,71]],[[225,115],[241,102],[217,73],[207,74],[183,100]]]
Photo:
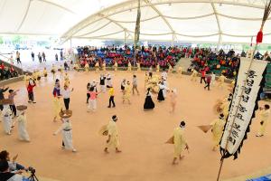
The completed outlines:
[[[252,54],[251,54],[251,57],[250,57],[250,63],[249,63],[249,67],[248,67],[248,71],[251,69],[251,65],[252,65],[252,62],[253,62],[253,59],[254,59],[254,54],[255,54],[256,50],[257,50],[257,44],[255,45],[255,49],[254,49],[254,51],[253,51]],[[243,89],[241,90],[240,97],[244,94],[244,90],[245,90],[245,86],[246,86],[247,81],[248,81],[248,73],[247,73],[247,76],[246,76],[246,81],[245,81],[244,87],[243,87]],[[241,99],[238,100],[238,106],[237,106],[237,107],[240,106],[240,102],[241,102]],[[238,113],[238,109],[235,111],[234,118],[233,118],[232,123],[231,123],[231,125],[230,125],[230,129],[229,129],[229,137],[230,137],[230,135],[231,135],[232,128],[233,128],[233,124],[235,123],[235,119],[236,119],[236,117],[237,117],[237,113]],[[228,117],[228,118],[229,118],[229,117]],[[228,149],[228,145],[229,145],[229,137],[227,138],[225,150]],[[220,181],[220,173],[221,173],[221,169],[222,169],[223,163],[224,163],[224,157],[222,156],[222,157],[221,157],[221,161],[220,161],[220,171],[219,171],[219,174],[218,174],[218,177],[217,177],[217,181]]]

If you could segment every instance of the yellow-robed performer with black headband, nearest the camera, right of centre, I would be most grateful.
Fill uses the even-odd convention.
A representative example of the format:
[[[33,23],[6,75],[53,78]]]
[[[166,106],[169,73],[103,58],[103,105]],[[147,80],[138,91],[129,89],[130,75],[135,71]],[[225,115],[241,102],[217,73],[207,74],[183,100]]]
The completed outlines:
[[[174,157],[173,165],[177,164],[177,159],[181,160],[183,149],[189,149],[186,139],[184,138],[185,122],[182,120],[180,126],[173,131]]]

